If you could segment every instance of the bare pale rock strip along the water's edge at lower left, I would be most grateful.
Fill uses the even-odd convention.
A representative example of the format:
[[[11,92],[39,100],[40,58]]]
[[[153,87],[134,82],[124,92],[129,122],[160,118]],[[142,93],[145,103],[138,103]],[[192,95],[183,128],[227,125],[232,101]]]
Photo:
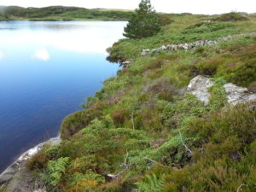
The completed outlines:
[[[32,157],[32,155],[37,154],[38,151],[42,150],[45,144],[54,146],[60,143],[61,143],[61,135],[59,134],[57,137],[52,137],[43,143],[39,143],[38,145],[28,149],[26,152],[21,154],[19,158],[17,158],[10,166],[8,166],[0,174],[0,186],[12,180],[15,177],[15,174],[20,170],[20,168],[25,166],[26,160],[29,160]]]

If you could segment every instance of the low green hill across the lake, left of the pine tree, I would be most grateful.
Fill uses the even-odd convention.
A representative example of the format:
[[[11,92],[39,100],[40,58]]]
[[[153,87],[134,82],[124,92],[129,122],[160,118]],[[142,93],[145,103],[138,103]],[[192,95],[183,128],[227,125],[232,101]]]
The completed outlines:
[[[131,15],[132,11],[122,9],[0,6],[0,20],[129,20]]]

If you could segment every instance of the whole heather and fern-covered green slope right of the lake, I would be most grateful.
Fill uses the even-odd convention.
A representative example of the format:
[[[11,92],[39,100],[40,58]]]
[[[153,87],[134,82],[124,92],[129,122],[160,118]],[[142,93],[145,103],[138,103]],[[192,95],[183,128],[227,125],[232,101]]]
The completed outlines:
[[[154,37],[113,44],[112,60],[131,64],[63,120],[61,145],[29,161],[49,191],[256,191],[255,105],[228,106],[221,88],[255,88],[256,38],[140,55],[162,44],[256,32],[256,18],[168,17],[172,23]],[[208,106],[184,92],[197,74],[216,82]]]

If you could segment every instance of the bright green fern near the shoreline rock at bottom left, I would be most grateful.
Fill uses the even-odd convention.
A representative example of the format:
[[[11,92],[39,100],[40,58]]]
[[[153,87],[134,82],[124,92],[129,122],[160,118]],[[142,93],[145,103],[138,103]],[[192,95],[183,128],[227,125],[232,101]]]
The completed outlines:
[[[66,172],[69,158],[59,158],[58,160],[49,160],[47,172],[42,174],[42,178],[53,186],[61,182],[61,177]]]

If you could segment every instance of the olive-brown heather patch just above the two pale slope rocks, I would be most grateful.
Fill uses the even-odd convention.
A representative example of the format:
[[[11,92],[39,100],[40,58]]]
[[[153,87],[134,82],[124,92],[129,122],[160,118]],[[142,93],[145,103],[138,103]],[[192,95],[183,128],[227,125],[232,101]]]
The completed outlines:
[[[228,82],[248,86],[256,79],[255,53],[255,44],[245,46],[233,54],[224,53],[201,61],[193,70],[196,68],[201,74],[224,77]]]

